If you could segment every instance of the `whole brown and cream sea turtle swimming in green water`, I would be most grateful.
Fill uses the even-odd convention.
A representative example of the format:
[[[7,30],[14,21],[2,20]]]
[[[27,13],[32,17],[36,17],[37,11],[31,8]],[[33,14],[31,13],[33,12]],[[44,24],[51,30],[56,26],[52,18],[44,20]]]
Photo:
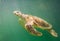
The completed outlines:
[[[37,31],[34,28],[34,25],[37,26],[37,28],[41,28],[44,30],[47,30],[52,36],[58,37],[57,33],[55,30],[52,28],[52,25],[49,24],[47,21],[43,20],[42,18],[39,18],[37,16],[32,16],[28,14],[23,14],[20,11],[14,11],[13,12],[15,15],[21,17],[25,21],[25,29],[30,32],[33,35],[36,36],[42,36],[42,33]]]

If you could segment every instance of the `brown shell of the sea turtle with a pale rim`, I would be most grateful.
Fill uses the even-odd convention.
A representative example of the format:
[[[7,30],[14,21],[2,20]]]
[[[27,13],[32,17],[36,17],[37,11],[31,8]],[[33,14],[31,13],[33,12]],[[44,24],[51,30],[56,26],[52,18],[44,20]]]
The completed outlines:
[[[52,25],[49,24],[47,21],[38,18],[38,17],[33,17],[35,25],[37,25],[41,29],[51,29]]]

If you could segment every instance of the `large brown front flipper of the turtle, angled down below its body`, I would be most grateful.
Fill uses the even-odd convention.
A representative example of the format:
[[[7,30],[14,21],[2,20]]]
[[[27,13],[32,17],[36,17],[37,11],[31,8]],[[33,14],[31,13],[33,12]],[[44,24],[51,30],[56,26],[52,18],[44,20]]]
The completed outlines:
[[[31,24],[31,22],[25,24],[25,29],[35,36],[42,36],[42,33],[37,31]]]

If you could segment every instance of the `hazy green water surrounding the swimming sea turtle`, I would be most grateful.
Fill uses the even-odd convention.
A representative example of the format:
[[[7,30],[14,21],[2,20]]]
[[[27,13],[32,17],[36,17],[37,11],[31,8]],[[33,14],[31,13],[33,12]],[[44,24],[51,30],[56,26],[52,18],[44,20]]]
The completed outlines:
[[[33,36],[18,22],[14,10],[41,17],[51,23],[58,37],[41,31]],[[58,0],[0,0],[0,41],[60,41],[60,2]]]

